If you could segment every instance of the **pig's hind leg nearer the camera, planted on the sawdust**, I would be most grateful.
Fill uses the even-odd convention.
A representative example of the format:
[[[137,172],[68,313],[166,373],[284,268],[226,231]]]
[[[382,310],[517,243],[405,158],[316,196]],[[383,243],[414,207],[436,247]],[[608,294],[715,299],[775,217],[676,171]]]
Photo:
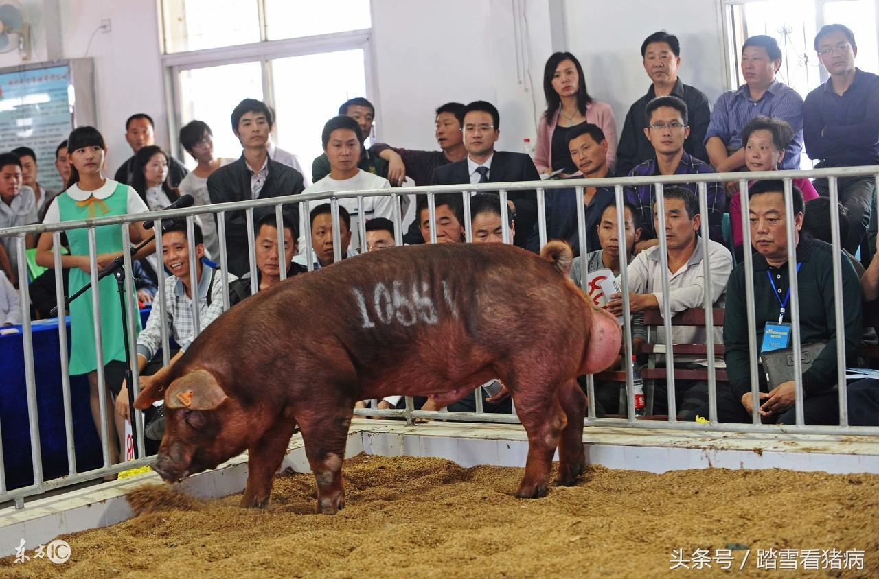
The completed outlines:
[[[513,394],[519,420],[528,434],[528,458],[525,476],[516,491],[517,498],[540,498],[547,494],[552,455],[565,425],[565,416],[559,406],[555,388],[522,387],[518,391],[528,396]]]

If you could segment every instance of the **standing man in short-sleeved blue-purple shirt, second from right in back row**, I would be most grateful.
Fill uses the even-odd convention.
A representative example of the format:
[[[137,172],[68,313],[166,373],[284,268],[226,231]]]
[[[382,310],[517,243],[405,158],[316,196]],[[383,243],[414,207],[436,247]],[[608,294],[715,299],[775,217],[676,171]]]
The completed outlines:
[[[708,161],[718,173],[745,167],[742,128],[757,115],[777,117],[794,127],[794,139],[785,149],[779,169],[799,169],[803,150],[803,98],[787,84],[776,80],[781,68],[781,48],[774,38],[752,36],[742,47],[742,76],[745,84],[724,92],[711,111],[705,134]]]

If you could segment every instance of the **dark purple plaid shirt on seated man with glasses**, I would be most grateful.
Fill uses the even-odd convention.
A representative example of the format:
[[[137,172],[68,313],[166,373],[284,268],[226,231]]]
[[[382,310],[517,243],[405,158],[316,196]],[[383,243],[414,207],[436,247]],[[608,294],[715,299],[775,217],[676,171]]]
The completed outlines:
[[[674,170],[675,175],[695,175],[697,173],[714,173],[715,170],[711,165],[700,161],[694,156],[684,155],[680,157],[678,168]],[[640,165],[636,165],[635,169],[628,172],[629,177],[645,177],[647,175],[659,175],[657,169],[656,157],[649,161],[644,161]],[[679,183],[675,184],[684,187],[699,195],[698,186],[695,183]],[[723,243],[723,212],[726,211],[726,193],[723,192],[722,183],[708,183],[708,235],[712,241]],[[667,185],[666,185],[667,186]],[[656,237],[656,230],[653,227],[653,200],[655,198],[656,188],[653,185],[638,185],[637,187],[626,187],[626,200],[635,206],[638,212],[638,220],[641,222],[643,229],[642,239],[653,239]]]

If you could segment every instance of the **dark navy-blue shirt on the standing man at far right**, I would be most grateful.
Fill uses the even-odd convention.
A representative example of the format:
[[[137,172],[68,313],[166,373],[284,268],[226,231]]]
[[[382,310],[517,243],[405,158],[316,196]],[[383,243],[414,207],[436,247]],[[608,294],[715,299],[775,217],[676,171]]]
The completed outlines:
[[[879,164],[879,76],[854,69],[854,82],[841,97],[832,83],[828,78],[806,96],[806,152],[821,161],[818,167]]]

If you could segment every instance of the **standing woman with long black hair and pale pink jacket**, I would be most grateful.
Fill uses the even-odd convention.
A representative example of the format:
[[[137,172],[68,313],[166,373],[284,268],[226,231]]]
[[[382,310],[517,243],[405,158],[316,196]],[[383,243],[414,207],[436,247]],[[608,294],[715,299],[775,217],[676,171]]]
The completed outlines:
[[[571,127],[584,123],[598,125],[607,138],[607,166],[616,163],[616,119],[607,103],[595,100],[586,92],[583,67],[569,52],[549,57],[543,69],[543,94],[547,111],[537,124],[537,147],[534,165],[541,173],[562,170],[560,177],[578,172],[568,151],[567,134]]]

